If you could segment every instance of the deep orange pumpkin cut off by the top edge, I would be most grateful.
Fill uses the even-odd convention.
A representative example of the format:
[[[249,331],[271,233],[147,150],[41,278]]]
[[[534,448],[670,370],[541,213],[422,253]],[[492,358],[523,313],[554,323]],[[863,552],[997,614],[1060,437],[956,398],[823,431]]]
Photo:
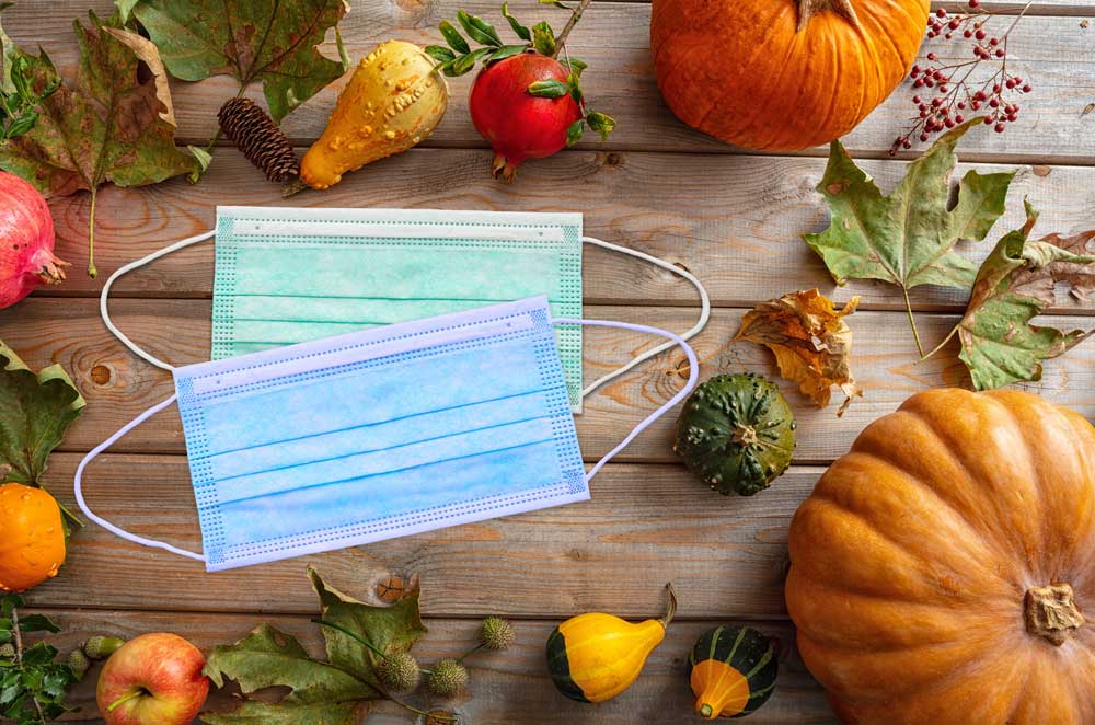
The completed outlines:
[[[727,143],[828,143],[901,82],[927,11],[927,0],[654,0],[658,87],[678,118]]]

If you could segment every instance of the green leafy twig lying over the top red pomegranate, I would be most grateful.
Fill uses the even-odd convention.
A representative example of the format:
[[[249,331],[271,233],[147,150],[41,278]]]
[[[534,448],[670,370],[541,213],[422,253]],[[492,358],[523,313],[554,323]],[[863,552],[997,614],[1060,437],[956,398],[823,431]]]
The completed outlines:
[[[468,38],[472,43],[477,43],[481,47],[472,48],[472,43],[461,35],[460,31],[450,23],[443,21],[438,27],[448,47],[443,45],[426,46],[426,53],[439,64],[437,69],[443,74],[454,78],[470,72],[480,61],[486,67],[493,62],[505,60],[521,53],[539,53],[555,58],[561,53],[560,59],[568,71],[565,81],[548,79],[537,81],[529,85],[528,93],[541,99],[561,99],[569,95],[581,110],[581,118],[574,122],[566,131],[566,145],[574,146],[581,140],[586,133],[586,126],[601,135],[601,140],[607,140],[609,134],[615,129],[616,122],[612,116],[599,111],[587,111],[585,94],[581,91],[581,71],[588,65],[577,58],[570,58],[566,53],[566,37],[581,19],[581,14],[589,5],[590,0],[581,0],[576,8],[570,8],[555,0],[539,0],[540,4],[554,5],[563,10],[570,11],[570,19],[567,21],[563,32],[557,36],[548,21],[540,21],[531,27],[521,24],[509,12],[509,3],[502,3],[502,16],[509,23],[510,28],[522,41],[517,44],[506,44],[498,35],[498,31],[491,23],[482,18],[469,14],[460,10],[457,12],[457,21],[463,28]]]

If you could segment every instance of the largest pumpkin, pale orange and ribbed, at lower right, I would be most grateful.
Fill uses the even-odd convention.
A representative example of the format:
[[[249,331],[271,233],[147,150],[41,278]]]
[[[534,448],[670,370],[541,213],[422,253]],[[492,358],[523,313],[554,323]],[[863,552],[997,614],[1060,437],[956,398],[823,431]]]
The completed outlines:
[[[791,525],[798,647],[848,723],[1095,723],[1095,428],[1022,392],[915,395]]]

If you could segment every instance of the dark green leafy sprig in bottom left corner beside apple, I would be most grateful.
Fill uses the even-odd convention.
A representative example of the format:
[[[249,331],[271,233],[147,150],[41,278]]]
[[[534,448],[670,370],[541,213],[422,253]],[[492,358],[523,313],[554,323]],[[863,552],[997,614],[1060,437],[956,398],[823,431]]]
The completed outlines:
[[[65,705],[65,694],[77,677],[68,665],[55,661],[58,653],[53,645],[23,642],[24,634],[56,634],[60,628],[42,614],[21,617],[22,606],[19,595],[0,599],[0,720],[45,725],[71,712]]]

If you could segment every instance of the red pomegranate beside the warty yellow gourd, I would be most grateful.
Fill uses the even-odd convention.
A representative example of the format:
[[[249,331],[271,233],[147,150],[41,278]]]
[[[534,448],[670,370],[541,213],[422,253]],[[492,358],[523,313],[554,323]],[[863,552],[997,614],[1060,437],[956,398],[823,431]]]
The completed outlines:
[[[472,85],[472,123],[494,149],[495,177],[514,181],[526,159],[543,159],[566,146],[566,130],[581,118],[569,93],[556,99],[529,94],[537,81],[567,81],[554,58],[530,50],[491,64]]]

